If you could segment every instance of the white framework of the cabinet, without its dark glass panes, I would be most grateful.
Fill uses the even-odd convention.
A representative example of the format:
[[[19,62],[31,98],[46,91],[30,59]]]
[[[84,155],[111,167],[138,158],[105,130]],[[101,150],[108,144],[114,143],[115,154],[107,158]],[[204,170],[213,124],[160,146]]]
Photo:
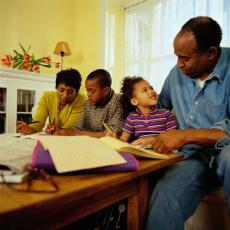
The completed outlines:
[[[56,77],[52,75],[0,67],[0,88],[6,92],[2,99],[4,110],[0,110],[0,116],[5,122],[5,132],[16,132],[17,115],[19,114],[17,111],[18,90],[34,91],[34,104],[37,104],[44,91],[55,90],[55,80]],[[26,113],[30,114],[31,111]]]

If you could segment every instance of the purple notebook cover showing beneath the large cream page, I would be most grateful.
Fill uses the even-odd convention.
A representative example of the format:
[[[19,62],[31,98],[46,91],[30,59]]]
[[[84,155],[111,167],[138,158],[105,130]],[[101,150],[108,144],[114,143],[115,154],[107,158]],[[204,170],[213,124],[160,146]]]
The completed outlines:
[[[101,168],[90,169],[87,171],[93,172],[126,172],[137,171],[140,168],[139,162],[131,154],[127,152],[120,152],[122,157],[127,161],[126,164],[105,166]],[[45,150],[42,144],[37,141],[32,154],[32,165],[37,168],[43,168],[50,171],[56,171],[50,154]]]

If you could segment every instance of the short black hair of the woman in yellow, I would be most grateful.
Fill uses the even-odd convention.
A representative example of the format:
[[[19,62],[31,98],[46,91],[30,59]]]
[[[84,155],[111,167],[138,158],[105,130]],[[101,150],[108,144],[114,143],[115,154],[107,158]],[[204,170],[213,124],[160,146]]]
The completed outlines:
[[[56,89],[60,84],[73,87],[77,92],[81,87],[81,74],[76,69],[66,69],[57,73]]]

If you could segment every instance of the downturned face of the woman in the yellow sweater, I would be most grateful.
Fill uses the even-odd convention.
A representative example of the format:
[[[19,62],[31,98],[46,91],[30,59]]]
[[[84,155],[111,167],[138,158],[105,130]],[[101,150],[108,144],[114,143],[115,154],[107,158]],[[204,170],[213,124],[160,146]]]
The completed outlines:
[[[64,83],[58,85],[57,93],[62,105],[71,104],[77,95],[76,89]]]

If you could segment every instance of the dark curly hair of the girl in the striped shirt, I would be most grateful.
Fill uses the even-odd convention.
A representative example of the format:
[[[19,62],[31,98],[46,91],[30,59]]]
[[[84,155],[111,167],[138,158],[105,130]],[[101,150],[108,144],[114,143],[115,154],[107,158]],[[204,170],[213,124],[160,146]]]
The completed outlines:
[[[130,103],[130,100],[133,96],[134,85],[140,81],[143,81],[142,77],[125,77],[122,81],[121,86],[121,103],[123,106],[123,115],[124,118],[128,116],[130,112],[136,110],[136,107]]]

